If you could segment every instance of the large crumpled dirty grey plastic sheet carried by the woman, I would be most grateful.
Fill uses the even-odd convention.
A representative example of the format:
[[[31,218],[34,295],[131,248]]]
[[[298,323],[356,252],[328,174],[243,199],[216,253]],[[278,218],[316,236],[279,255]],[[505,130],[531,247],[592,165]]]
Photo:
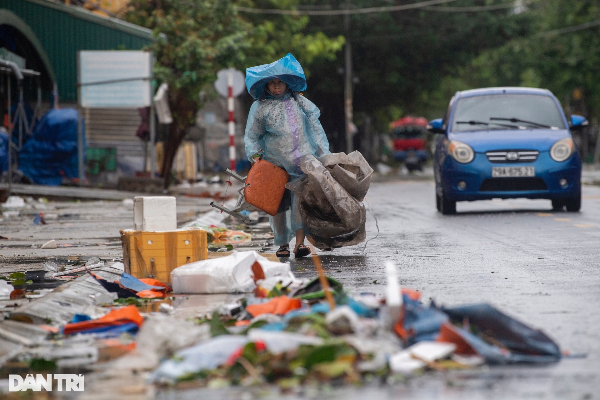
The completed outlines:
[[[286,187],[298,197],[299,212],[317,248],[332,250],[365,240],[366,212],[361,200],[367,194],[373,169],[358,151],[305,155],[300,161],[305,176]]]

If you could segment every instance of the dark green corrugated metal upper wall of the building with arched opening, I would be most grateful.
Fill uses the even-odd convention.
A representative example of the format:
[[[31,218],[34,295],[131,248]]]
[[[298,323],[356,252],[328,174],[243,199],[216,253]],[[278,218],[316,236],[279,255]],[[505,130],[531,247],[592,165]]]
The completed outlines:
[[[4,24],[29,39],[63,101],[77,100],[79,50],[139,50],[155,40],[150,29],[52,0],[0,0]]]

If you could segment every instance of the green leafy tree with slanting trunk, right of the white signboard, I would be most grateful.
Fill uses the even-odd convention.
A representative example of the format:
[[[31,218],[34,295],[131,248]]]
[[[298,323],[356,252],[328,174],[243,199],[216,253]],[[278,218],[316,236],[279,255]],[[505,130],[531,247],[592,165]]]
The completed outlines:
[[[240,5],[253,7],[249,1]],[[293,5],[274,0],[275,7]],[[131,0],[124,18],[154,31],[151,45],[155,77],[169,84],[173,124],[164,142],[162,176],[168,184],[170,169],[187,129],[202,107],[200,91],[217,78],[221,68],[244,69],[275,61],[293,52],[301,62],[331,58],[344,43],[320,32],[302,33],[306,18],[272,19],[238,13],[229,0]],[[159,35],[166,35],[166,39]]]

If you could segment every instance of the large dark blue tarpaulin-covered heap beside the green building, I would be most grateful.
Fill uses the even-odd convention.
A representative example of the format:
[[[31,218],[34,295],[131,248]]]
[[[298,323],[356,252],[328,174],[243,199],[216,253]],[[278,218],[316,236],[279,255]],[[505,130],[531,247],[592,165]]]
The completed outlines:
[[[60,185],[63,177],[79,177],[76,109],[50,110],[43,116],[23,145],[19,169],[35,184],[41,185]]]

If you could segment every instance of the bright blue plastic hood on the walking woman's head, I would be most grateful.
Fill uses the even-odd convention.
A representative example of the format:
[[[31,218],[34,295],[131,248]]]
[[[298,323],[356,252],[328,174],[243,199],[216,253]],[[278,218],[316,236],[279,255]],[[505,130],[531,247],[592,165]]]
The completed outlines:
[[[246,68],[246,88],[256,100],[259,100],[266,83],[272,79],[283,80],[294,92],[306,90],[304,70],[292,53],[287,53],[284,58],[271,64]]]

